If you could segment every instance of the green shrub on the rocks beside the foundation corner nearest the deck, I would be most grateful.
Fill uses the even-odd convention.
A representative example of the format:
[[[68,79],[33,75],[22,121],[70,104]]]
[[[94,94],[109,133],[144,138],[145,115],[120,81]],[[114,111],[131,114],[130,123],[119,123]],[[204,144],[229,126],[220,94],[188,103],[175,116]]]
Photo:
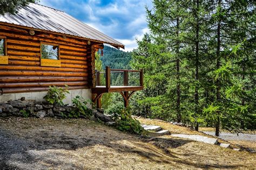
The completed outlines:
[[[92,110],[87,108],[86,105],[89,103],[89,100],[85,100],[83,97],[76,96],[72,99],[73,106],[76,107],[76,110],[71,111],[69,117],[80,117],[84,116],[89,118],[92,115]]]

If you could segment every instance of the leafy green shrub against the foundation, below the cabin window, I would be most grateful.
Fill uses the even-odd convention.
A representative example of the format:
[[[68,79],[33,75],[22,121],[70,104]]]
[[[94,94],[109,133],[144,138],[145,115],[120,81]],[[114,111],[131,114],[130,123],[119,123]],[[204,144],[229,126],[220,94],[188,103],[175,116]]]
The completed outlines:
[[[50,86],[49,88],[44,99],[51,104],[64,105],[62,101],[66,98],[66,94],[69,94],[68,86],[65,85],[65,88]]]

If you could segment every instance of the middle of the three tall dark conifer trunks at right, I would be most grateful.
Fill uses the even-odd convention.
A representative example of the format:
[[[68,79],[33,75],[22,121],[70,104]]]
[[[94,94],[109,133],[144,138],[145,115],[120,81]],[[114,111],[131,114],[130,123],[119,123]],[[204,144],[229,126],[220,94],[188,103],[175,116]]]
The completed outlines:
[[[198,81],[199,79],[199,18],[198,18],[198,10],[199,10],[199,0],[197,0],[197,10],[196,10],[196,73],[195,73],[195,80]],[[194,102],[195,102],[195,112],[199,114],[199,96],[198,96],[198,83],[196,83],[196,88],[194,89]],[[198,131],[198,122],[196,126],[196,131]]]

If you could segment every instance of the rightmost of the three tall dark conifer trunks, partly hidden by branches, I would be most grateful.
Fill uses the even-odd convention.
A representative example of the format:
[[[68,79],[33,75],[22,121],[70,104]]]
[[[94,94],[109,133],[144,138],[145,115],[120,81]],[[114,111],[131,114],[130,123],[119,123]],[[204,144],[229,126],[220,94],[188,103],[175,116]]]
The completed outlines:
[[[218,7],[220,8],[221,5],[221,0],[218,0]],[[216,69],[220,68],[220,18],[218,20],[218,28],[217,28],[217,62],[216,62]],[[217,102],[220,103],[220,81],[217,79],[216,81],[216,97],[217,97]],[[220,111],[217,111],[217,122],[215,124],[215,136],[220,136]]]

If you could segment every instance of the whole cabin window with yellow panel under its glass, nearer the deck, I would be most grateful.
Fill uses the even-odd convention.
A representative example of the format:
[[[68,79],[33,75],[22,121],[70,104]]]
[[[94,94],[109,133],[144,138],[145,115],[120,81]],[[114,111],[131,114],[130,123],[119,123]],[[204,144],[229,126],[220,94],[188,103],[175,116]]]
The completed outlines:
[[[59,45],[41,43],[41,66],[60,67]]]

